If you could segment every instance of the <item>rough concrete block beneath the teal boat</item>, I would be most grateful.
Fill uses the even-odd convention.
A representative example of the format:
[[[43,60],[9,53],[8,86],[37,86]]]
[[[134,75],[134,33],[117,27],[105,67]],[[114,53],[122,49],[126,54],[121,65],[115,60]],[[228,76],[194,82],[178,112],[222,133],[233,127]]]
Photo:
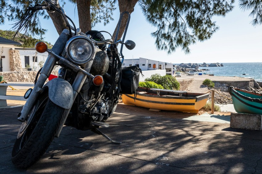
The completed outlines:
[[[262,115],[231,113],[230,127],[236,129],[262,130]]]

